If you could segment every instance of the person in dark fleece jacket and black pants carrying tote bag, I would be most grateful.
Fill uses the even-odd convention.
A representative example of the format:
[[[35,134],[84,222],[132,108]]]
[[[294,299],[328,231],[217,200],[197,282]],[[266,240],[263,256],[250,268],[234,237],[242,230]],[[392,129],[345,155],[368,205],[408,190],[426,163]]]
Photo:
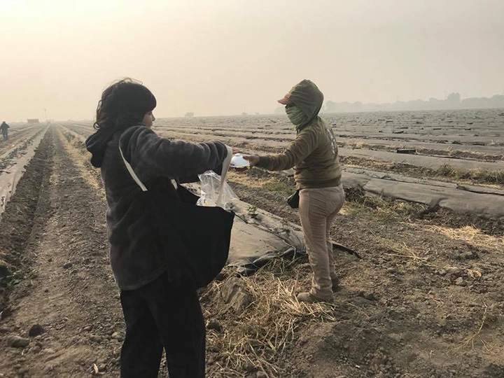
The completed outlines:
[[[155,210],[137,206],[134,199],[146,192],[129,169],[149,193],[179,200],[172,179],[216,169],[228,150],[218,141],[193,144],[159,137],[151,129],[155,106],[144,85],[132,79],[114,83],[102,94],[97,132],[86,141],[109,204],[110,260],[126,323],[120,376],[157,378],[164,348],[171,378],[201,378],[205,325],[196,288],[172,279],[177,272],[166,263],[169,252],[162,247],[169,243],[169,231],[153,230]]]

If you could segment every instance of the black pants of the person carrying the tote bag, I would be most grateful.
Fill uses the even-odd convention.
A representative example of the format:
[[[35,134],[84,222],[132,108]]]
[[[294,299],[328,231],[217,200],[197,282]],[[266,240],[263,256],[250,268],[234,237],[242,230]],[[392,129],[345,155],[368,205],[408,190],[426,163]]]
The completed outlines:
[[[205,375],[205,325],[194,288],[178,287],[162,274],[136,290],[122,290],[126,337],[122,378],[158,378],[163,347],[170,378]]]

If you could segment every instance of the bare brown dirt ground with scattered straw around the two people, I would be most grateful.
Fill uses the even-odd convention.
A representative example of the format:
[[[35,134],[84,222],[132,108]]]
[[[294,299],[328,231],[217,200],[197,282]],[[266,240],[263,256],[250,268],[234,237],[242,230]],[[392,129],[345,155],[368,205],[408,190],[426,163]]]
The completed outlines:
[[[118,377],[123,315],[87,160],[53,125],[2,214],[0,377]],[[241,200],[299,223],[285,203],[292,179],[253,169],[230,181]],[[346,194],[331,235],[362,259],[337,251],[335,303],[293,300],[310,285],[303,255],[253,276],[226,269],[200,293],[208,376],[504,377],[504,225]]]

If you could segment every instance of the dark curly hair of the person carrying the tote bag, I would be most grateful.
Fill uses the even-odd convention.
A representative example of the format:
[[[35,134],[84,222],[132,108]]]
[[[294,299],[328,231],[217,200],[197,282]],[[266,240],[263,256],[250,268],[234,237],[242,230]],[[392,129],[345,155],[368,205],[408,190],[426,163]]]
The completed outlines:
[[[154,94],[141,82],[132,78],[118,80],[102,93],[93,126],[95,129],[123,129],[140,125],[156,104]]]

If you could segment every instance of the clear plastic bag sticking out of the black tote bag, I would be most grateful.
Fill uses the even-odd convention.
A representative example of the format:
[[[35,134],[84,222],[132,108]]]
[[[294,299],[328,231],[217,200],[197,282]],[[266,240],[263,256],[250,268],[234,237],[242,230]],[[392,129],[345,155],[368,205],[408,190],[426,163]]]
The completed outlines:
[[[231,208],[231,202],[238,200],[237,195],[231,189],[229,184],[224,181],[221,186],[221,176],[214,171],[207,171],[198,175],[201,181],[202,189],[200,200],[196,203],[198,206],[222,207],[225,210]],[[222,193],[221,192],[222,187]]]

